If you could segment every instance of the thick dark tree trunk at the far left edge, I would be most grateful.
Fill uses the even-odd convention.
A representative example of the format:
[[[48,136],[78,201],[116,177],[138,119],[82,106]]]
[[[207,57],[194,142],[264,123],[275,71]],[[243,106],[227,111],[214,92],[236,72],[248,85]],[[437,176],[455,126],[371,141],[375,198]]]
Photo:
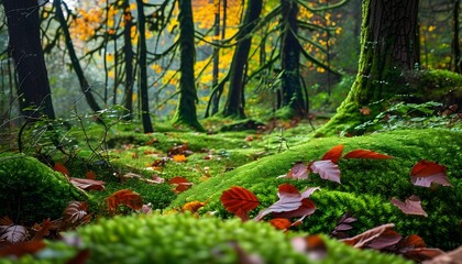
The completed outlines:
[[[21,113],[30,118],[45,114],[54,119],[52,92],[40,37],[37,1],[4,0],[3,7],[10,37],[9,52],[14,59],[19,78]]]

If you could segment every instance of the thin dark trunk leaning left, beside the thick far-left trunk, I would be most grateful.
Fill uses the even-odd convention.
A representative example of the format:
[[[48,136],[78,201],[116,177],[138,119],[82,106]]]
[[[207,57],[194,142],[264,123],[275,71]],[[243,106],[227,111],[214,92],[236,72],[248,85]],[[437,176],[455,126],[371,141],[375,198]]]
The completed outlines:
[[[100,111],[101,108],[98,106],[97,101],[95,100],[95,97],[91,94],[90,85],[85,78],[84,69],[80,66],[80,62],[78,61],[76,51],[74,48],[73,40],[69,33],[69,28],[67,26],[66,18],[64,18],[63,9],[61,8],[61,1],[62,0],[53,0],[53,6],[56,9],[56,16],[59,21],[61,29],[63,30],[63,33],[64,33],[67,52],[69,53],[70,63],[73,65],[74,70],[76,72],[78,82],[80,84],[81,92],[84,92],[85,99],[87,100],[88,106],[95,112]]]

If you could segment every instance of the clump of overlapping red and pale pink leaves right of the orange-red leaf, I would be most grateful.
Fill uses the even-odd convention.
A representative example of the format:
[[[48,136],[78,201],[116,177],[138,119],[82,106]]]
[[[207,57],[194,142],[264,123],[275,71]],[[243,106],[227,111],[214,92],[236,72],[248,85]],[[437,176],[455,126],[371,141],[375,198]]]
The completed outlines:
[[[309,189],[305,193],[307,193],[309,196],[312,191],[314,190]],[[312,201],[301,196],[298,189],[293,185],[289,185],[289,184],[279,185],[277,196],[279,197],[279,200],[273,204],[272,206],[270,206],[268,208],[264,209],[263,211],[261,211],[258,216],[255,217],[256,220],[262,219],[264,216],[271,212],[276,212],[276,213],[285,212],[285,213],[279,215],[279,217],[290,218],[290,217],[309,216],[316,210],[316,207],[312,204]]]

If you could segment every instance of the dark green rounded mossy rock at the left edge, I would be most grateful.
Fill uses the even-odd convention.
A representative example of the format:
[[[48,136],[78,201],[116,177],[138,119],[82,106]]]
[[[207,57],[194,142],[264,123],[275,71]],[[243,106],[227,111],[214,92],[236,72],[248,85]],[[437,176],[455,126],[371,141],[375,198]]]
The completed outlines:
[[[64,175],[23,155],[0,155],[0,217],[15,223],[57,219],[69,201],[87,199]]]

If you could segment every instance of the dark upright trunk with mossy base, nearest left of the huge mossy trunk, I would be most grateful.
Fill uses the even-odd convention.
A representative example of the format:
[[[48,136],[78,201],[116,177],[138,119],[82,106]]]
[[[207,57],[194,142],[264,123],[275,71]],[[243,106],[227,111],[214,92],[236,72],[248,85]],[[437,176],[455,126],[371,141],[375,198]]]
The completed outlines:
[[[296,1],[282,0],[282,40],[280,66],[282,75],[282,107],[285,117],[302,116],[306,106],[300,84],[300,44],[297,40],[298,6]]]

